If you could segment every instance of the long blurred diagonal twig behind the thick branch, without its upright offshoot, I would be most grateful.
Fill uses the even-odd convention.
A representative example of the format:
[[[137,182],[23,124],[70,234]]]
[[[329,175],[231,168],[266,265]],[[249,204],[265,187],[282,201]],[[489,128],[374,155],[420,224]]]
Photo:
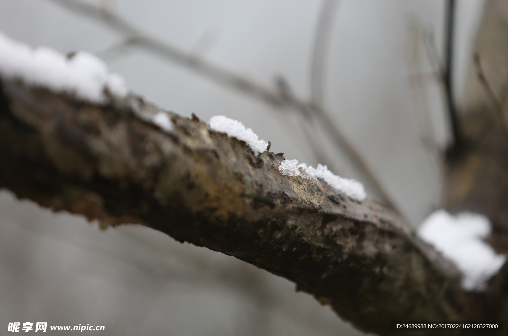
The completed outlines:
[[[76,14],[97,20],[111,29],[116,30],[116,32],[126,37],[126,40],[118,45],[119,47],[133,45],[143,48],[157,55],[163,56],[178,65],[184,66],[189,70],[195,71],[213,82],[240,91],[247,96],[261,100],[271,106],[281,109],[296,109],[302,114],[309,112],[315,114],[317,119],[324,126],[326,132],[330,134],[338,146],[343,148],[354,168],[365,178],[364,182],[370,185],[374,192],[378,196],[382,197],[383,201],[385,201],[387,205],[396,209],[394,203],[391,201],[391,198],[385,192],[384,188],[382,188],[380,182],[370,171],[358,152],[335,127],[334,121],[323,108],[305,103],[294,96],[283,97],[280,92],[277,93],[277,91],[273,89],[243,78],[194,54],[182,51],[167,42],[151,37],[144,33],[141,29],[135,27],[132,23],[112,12],[101,11],[99,8],[79,0],[48,1],[60,5]],[[309,130],[307,129],[306,132],[308,131]],[[315,144],[313,143],[311,143],[311,146],[313,149],[319,149],[319,146],[315,148]]]

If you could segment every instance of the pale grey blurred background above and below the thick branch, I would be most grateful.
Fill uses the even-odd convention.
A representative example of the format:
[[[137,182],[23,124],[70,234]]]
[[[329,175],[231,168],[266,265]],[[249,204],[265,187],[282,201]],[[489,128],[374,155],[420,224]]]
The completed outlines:
[[[439,207],[436,148],[450,140],[436,75],[444,58],[447,1],[86,3],[274,91],[280,89],[275,79],[282,78],[302,101],[315,98],[310,84],[316,32],[324,6],[330,6],[319,65],[321,105],[411,225]],[[483,7],[483,0],[457,1],[453,83],[459,106]],[[120,48],[125,36],[55,2],[0,1],[0,31],[34,47],[96,53],[148,101],[204,120],[216,114],[238,119],[271,141],[271,151],[319,163],[297,111],[266,104],[143,48]],[[377,197],[343,148],[319,124],[312,127],[331,170],[365,182],[369,196]],[[143,227],[100,231],[97,223],[55,215],[0,191],[0,333],[9,322],[25,321],[105,325],[105,331],[84,332],[108,335],[362,334],[329,307],[296,293],[292,283],[235,258]]]

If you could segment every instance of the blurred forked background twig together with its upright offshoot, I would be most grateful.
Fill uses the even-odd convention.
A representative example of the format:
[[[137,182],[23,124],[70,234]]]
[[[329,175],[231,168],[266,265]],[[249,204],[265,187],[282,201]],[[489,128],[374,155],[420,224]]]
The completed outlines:
[[[283,90],[280,90],[280,87],[278,87],[279,90],[274,90],[270,87],[260,85],[249,80],[248,78],[235,74],[226,68],[210,63],[199,55],[185,52],[170,43],[152,37],[149,34],[143,32],[142,29],[136,27],[131,22],[123,19],[118,15],[115,15],[112,12],[101,10],[101,8],[86,4],[80,0],[48,1],[53,2],[62,8],[66,8],[78,15],[82,15],[84,17],[96,20],[97,22],[101,22],[119,34],[125,36],[126,39],[119,45],[114,46],[113,49],[119,50],[124,46],[140,47],[147,51],[153,52],[156,55],[162,56],[177,65],[192,70],[219,85],[234,89],[246,96],[257,99],[261,102],[269,104],[270,106],[277,107],[279,110],[288,109],[290,111],[297,112],[302,123],[304,124],[303,129],[304,132],[307,133],[308,138],[312,137],[312,134],[309,133],[309,130],[311,129],[309,126],[312,124],[312,122],[309,121],[309,116],[316,116],[316,120],[319,121],[323,130],[330,135],[330,137],[334,140],[335,145],[343,151],[345,159],[351,163],[351,165],[357,170],[358,173],[360,173],[364,179],[364,182],[372,188],[372,190],[376,193],[376,196],[393,209],[397,209],[396,204],[393,202],[392,197],[386,191],[386,188],[382,183],[379,182],[377,176],[372,172],[370,167],[366,164],[365,160],[363,160],[352,143],[346,139],[342,135],[342,132],[335,126],[335,122],[329,116],[329,113],[325,111],[322,104],[319,101],[316,101],[314,98],[312,98],[313,101],[311,104],[309,104],[303,99],[295,97],[294,95],[286,95]],[[330,7],[330,13],[332,13],[333,7],[335,6],[336,4],[333,4],[332,1],[330,2],[330,5],[326,5],[325,7]],[[329,19],[326,19],[325,21],[329,21]],[[319,83],[316,84],[316,81],[322,80],[322,76],[319,75],[319,72],[323,72],[323,69],[319,66],[316,68],[315,64],[324,58],[326,51],[326,35],[328,35],[326,30],[328,29],[327,26],[331,23],[331,21],[325,23],[323,29],[318,29],[325,31],[323,33],[318,31],[316,34],[316,54],[314,55],[312,73],[317,73],[318,75],[312,75],[312,97],[314,97],[315,93],[314,87],[322,86]],[[310,141],[309,144],[311,145],[315,154],[322,152],[320,149],[322,145],[319,143]],[[317,158],[320,159],[323,164],[331,165],[330,158],[327,158],[325,155],[317,155]],[[322,159],[325,159],[326,161],[322,161]]]

